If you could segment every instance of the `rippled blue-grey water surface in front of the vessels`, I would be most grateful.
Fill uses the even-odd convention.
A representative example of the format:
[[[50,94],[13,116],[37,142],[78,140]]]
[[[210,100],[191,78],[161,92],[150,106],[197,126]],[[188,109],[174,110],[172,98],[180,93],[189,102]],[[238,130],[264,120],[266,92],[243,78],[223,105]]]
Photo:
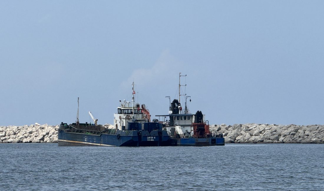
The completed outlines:
[[[324,144],[0,144],[1,190],[323,190]]]

